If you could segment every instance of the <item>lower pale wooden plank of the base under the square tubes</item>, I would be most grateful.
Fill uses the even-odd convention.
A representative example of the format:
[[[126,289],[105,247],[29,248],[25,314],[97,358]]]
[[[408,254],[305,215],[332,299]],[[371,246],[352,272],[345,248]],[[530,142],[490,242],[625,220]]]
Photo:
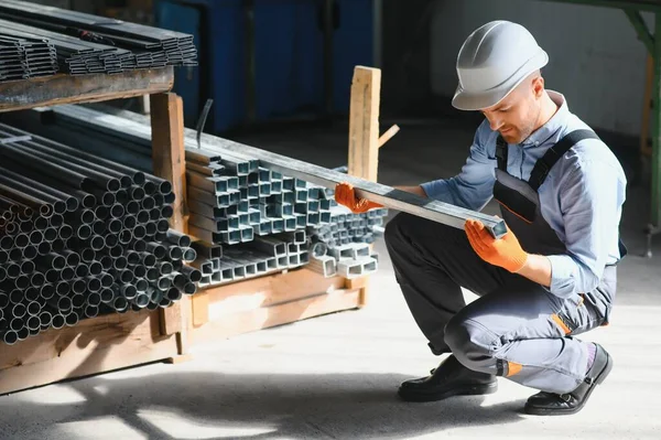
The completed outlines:
[[[302,298],[295,301],[259,309],[224,314],[221,320],[209,321],[193,330],[194,343],[216,341],[237,334],[288,324],[322,314],[356,309],[359,290],[337,290]]]

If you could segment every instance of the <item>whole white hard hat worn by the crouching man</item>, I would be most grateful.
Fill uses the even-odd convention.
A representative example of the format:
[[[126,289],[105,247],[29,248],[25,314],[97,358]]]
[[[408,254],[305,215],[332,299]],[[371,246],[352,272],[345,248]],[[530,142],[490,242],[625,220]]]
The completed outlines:
[[[479,110],[500,103],[549,55],[525,28],[509,21],[492,21],[473,32],[457,56],[459,85],[452,105],[459,110]]]

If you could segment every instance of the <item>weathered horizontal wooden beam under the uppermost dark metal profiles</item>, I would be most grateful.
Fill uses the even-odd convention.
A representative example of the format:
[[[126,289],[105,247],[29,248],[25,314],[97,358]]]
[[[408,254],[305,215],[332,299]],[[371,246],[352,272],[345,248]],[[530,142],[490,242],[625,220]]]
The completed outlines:
[[[58,74],[0,84],[0,111],[61,104],[130,98],[172,89],[173,68],[127,71],[117,75]]]

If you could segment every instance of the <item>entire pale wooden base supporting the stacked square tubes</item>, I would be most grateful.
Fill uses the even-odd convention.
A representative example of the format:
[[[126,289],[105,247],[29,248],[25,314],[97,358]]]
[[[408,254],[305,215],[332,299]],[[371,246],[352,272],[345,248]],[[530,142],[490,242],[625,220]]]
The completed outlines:
[[[203,290],[189,301],[192,345],[365,304],[367,281],[308,269]]]

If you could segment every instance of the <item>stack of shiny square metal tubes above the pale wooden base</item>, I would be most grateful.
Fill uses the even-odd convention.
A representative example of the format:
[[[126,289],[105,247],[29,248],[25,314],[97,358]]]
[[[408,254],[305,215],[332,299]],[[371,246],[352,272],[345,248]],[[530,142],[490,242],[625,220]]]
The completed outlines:
[[[57,106],[7,117],[12,125],[130,167],[144,169],[151,163],[151,128],[141,115]],[[273,172],[262,167],[259,158],[238,157],[213,142],[198,144],[188,131],[185,147],[188,232],[199,239],[199,258],[193,266],[203,273],[202,286],[234,281],[241,270],[252,272],[252,264],[266,265],[269,270],[288,268],[285,260],[289,267],[305,265],[311,259],[310,245],[318,242],[333,248],[372,243],[378,237],[387,210],[351,214],[337,206],[330,190]],[[289,233],[305,234],[306,244],[292,242]],[[273,236],[282,245],[279,248],[284,247],[289,254],[246,257],[246,249],[254,251],[254,243]],[[263,245],[257,246],[258,251],[264,249]],[[248,269],[232,271],[230,277],[228,268],[240,266],[239,251],[245,254],[243,266]],[[368,265],[365,271],[370,268]]]

